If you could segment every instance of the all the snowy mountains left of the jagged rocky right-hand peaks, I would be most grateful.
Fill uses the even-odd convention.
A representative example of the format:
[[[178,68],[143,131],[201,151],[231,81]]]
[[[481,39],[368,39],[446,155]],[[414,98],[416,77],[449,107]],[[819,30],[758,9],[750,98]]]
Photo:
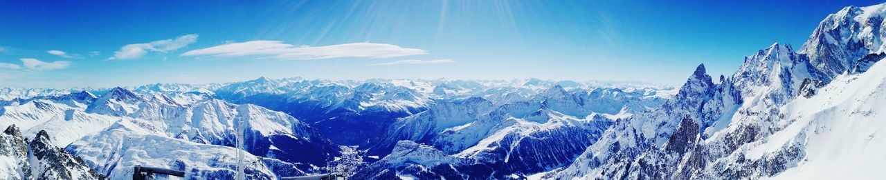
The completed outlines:
[[[501,177],[506,176],[504,172],[523,175],[563,166],[616,119],[654,109],[672,96],[672,90],[654,86],[618,89],[540,79],[260,78],[95,91],[100,95],[90,92],[19,95],[0,101],[0,124],[19,125],[25,137],[39,131],[58,134],[46,138],[55,146],[66,146],[66,152],[81,157],[98,174],[112,178],[132,173],[119,167],[135,165],[181,169],[197,178],[230,176],[236,166],[224,154],[242,151],[232,148],[238,129],[245,130],[243,150],[252,161],[246,171],[253,178],[324,172],[330,170],[324,167],[340,166],[336,163],[344,150],[368,163],[379,161],[378,157],[391,154],[401,140],[434,144],[431,148],[442,149],[447,158],[464,160],[466,163],[455,164],[462,168],[487,167],[477,173],[491,175],[494,169],[508,167],[490,176]],[[240,122],[244,125],[239,126]],[[433,124],[427,134],[392,128],[428,122]],[[315,128],[318,126],[324,128]],[[328,136],[343,141],[333,143]],[[581,143],[568,143],[571,140]],[[363,146],[356,151],[354,147],[338,147],[354,145],[349,142],[362,142],[358,145]],[[551,143],[571,148],[545,152]],[[502,151],[510,147],[499,144],[514,147]],[[181,149],[190,150],[177,151]],[[519,155],[514,155],[514,160],[498,160],[508,154]],[[517,158],[523,154],[549,157]],[[481,165],[472,162],[481,160],[485,161]],[[355,162],[358,167],[368,165]]]

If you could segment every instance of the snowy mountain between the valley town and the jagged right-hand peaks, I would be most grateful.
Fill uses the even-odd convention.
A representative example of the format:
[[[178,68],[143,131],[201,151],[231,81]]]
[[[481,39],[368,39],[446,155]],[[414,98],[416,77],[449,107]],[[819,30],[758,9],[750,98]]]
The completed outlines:
[[[569,164],[619,118],[656,109],[664,100],[644,91],[567,91],[556,85],[525,101],[502,105],[481,97],[437,101],[428,110],[392,124],[368,152],[390,155],[358,174],[509,178],[556,169]],[[426,161],[386,161],[409,148],[439,153]],[[452,168],[435,168],[441,166]]]

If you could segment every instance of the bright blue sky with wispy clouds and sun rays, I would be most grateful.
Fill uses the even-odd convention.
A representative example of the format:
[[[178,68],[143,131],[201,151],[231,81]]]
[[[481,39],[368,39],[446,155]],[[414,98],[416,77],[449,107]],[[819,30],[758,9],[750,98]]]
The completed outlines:
[[[680,84],[879,1],[3,1],[0,86],[245,79]]]

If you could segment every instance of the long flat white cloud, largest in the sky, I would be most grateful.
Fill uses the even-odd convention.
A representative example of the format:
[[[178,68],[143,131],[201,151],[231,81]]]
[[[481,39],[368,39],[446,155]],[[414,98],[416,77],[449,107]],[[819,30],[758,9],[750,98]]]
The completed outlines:
[[[259,56],[277,59],[330,59],[340,57],[386,58],[426,55],[424,49],[408,49],[393,44],[355,42],[330,46],[295,46],[283,41],[245,41],[206,49],[190,50],[182,56]]]

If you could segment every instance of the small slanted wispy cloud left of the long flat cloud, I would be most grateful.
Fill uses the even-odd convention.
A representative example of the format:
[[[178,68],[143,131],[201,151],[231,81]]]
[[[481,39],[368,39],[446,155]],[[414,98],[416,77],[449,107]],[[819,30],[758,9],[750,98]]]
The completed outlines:
[[[197,34],[187,34],[178,36],[175,39],[167,39],[160,41],[151,41],[148,43],[127,44],[113,52],[110,60],[120,59],[136,59],[148,54],[148,52],[167,52],[175,49],[182,49],[190,43],[197,41]]]

